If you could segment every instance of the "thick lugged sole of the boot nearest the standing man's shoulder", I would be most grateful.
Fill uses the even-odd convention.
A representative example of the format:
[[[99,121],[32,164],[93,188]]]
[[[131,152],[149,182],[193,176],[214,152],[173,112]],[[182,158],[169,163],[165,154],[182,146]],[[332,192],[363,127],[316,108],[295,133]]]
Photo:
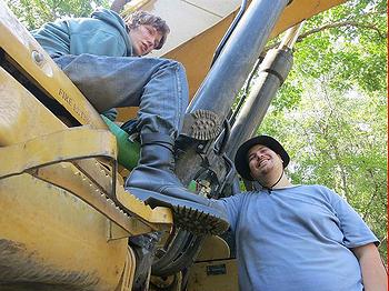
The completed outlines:
[[[172,197],[169,197],[169,201],[166,201],[166,195],[143,189],[128,188],[126,190],[151,208],[170,208],[176,227],[193,234],[217,235],[223,233],[229,227],[227,219],[223,219],[220,212],[211,207]]]

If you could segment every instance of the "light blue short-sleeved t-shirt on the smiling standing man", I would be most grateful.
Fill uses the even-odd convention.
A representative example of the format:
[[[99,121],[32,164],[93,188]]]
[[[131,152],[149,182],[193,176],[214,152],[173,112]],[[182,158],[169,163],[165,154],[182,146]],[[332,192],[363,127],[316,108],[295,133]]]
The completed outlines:
[[[350,248],[378,243],[359,214],[322,185],[219,200],[236,238],[243,291],[361,291]]]

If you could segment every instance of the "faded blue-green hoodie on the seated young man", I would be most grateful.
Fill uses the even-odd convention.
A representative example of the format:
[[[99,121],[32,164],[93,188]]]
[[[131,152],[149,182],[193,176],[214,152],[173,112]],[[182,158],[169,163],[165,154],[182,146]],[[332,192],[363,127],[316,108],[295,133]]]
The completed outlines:
[[[51,57],[81,53],[132,56],[132,44],[124,21],[108,9],[96,10],[91,18],[49,22],[31,33]]]

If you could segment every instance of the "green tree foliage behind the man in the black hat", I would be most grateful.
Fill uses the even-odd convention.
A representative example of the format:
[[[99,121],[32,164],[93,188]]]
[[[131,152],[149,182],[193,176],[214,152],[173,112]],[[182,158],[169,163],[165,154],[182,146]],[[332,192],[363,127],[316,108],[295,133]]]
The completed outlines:
[[[386,1],[349,1],[307,21],[295,67],[259,132],[290,151],[293,183],[345,197],[387,258]]]

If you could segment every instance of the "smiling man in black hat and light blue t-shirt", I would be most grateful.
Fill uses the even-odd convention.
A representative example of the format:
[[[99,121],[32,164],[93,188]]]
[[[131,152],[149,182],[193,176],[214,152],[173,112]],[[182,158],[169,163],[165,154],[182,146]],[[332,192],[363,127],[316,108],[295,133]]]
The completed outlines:
[[[328,188],[292,185],[289,160],[270,137],[248,140],[235,163],[261,190],[217,201],[235,233],[240,290],[387,290],[376,235]]]

